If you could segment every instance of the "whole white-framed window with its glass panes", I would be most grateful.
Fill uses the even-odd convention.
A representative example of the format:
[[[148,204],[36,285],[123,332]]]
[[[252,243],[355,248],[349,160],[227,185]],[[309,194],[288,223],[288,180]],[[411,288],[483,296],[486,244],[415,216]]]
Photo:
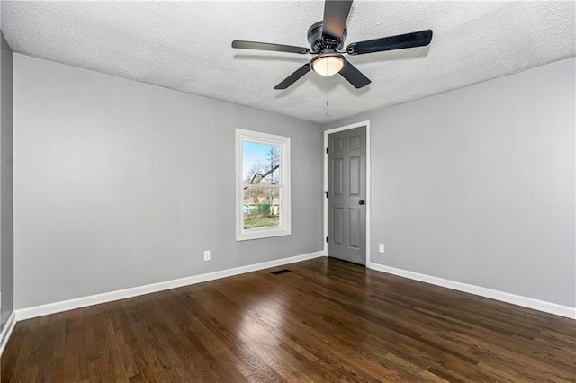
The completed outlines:
[[[236,129],[236,240],[289,236],[290,138]]]

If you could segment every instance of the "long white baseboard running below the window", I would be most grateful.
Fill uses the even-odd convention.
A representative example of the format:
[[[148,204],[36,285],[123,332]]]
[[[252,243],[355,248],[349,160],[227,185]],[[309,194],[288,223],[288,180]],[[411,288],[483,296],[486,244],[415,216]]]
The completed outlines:
[[[238,274],[244,274],[246,272],[257,272],[258,270],[268,269],[270,267],[282,266],[288,263],[302,262],[309,259],[318,258],[320,256],[326,256],[326,254],[324,254],[323,251],[320,251],[315,253],[296,255],[289,258],[277,259],[275,261],[268,261],[264,263],[256,263],[247,266],[235,267],[233,269],[222,270],[220,272],[208,272],[205,274],[193,275],[192,277],[181,278],[178,280],[152,283],[149,285],[138,286],[130,289],[120,289],[116,291],[105,292],[103,294],[91,295],[88,297],[75,298],[55,303],[49,303],[47,305],[42,306],[21,308],[16,310],[16,320],[21,321],[24,319],[30,319],[37,316],[47,316],[49,314],[55,314],[62,311],[73,310],[75,308],[99,305],[101,303],[112,302],[113,300],[132,298],[137,297],[139,295],[150,294],[157,291],[163,291],[166,289],[175,289],[183,286],[192,285],[195,283],[218,280],[220,278],[226,278]]]

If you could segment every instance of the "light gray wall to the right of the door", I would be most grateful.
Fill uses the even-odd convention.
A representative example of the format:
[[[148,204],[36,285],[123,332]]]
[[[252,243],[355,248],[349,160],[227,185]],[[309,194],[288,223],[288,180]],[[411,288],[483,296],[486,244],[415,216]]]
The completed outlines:
[[[372,261],[576,307],[574,72],[572,58],[324,126],[371,120]]]

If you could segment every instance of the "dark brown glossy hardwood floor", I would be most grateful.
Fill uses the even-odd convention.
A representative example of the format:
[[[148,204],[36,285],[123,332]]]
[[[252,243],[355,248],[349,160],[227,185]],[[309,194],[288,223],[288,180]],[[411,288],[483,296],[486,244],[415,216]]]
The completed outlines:
[[[3,382],[576,381],[576,321],[332,259],[19,322]]]

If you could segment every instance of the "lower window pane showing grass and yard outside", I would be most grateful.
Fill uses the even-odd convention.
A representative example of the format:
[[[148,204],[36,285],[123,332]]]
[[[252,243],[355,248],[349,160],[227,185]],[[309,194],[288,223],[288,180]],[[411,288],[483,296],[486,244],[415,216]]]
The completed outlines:
[[[247,186],[243,211],[245,229],[280,226],[280,189]]]

